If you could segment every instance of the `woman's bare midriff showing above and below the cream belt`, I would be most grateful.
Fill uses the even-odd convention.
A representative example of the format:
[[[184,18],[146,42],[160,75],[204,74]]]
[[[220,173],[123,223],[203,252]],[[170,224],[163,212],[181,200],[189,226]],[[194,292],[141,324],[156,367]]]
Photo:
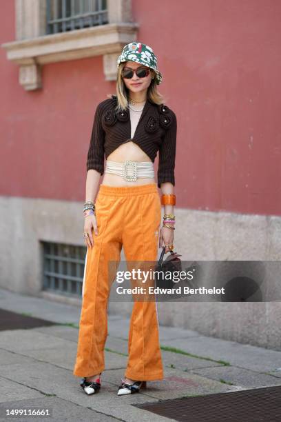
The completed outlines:
[[[125,160],[152,161],[134,141],[129,141],[118,146],[118,148],[107,157],[107,160],[121,163]],[[103,183],[101,184],[110,186],[134,186],[145,185],[147,183],[156,183],[156,181],[153,177],[137,177],[136,181],[125,181],[123,177],[118,176],[118,174],[104,173]]]

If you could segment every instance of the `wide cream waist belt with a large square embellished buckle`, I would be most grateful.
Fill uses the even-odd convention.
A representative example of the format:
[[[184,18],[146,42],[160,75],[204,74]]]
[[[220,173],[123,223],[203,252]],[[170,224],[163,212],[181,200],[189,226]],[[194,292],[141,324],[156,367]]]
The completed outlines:
[[[152,161],[106,161],[105,173],[122,176],[125,181],[136,181],[138,177],[154,178]]]

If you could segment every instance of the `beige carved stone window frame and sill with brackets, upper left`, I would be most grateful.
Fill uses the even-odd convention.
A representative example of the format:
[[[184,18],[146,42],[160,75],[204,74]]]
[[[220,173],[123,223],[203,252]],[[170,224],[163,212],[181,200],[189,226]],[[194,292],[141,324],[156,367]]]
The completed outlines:
[[[107,0],[108,22],[91,28],[46,35],[46,1],[14,0],[16,41],[3,43],[7,59],[19,65],[25,90],[42,88],[41,67],[85,57],[103,56],[105,81],[116,81],[116,60],[123,46],[136,41],[132,0]]]

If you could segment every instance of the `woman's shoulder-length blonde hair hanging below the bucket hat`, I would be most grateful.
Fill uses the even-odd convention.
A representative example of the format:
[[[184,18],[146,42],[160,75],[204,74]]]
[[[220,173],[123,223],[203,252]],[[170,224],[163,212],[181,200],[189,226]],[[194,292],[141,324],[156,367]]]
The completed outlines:
[[[125,110],[128,106],[128,89],[125,86],[123,78],[121,76],[122,70],[125,66],[126,62],[123,61],[120,63],[118,70],[117,70],[117,78],[116,78],[116,97],[117,97],[117,106],[115,108],[116,112],[120,112]],[[160,92],[158,92],[157,83],[156,83],[156,73],[152,68],[150,68],[152,72],[152,81],[147,88],[147,98],[155,104],[163,104],[165,103],[165,98],[163,97]],[[112,94],[108,94],[107,97],[111,97]]]

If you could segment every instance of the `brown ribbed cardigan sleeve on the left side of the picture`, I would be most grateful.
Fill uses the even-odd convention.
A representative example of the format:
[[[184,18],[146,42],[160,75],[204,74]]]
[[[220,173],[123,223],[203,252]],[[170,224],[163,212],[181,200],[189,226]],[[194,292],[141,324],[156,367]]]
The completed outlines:
[[[101,114],[102,108],[101,103],[99,103],[94,114],[90,146],[87,153],[87,171],[94,169],[100,172],[102,176],[104,172],[105,132],[101,125]]]

